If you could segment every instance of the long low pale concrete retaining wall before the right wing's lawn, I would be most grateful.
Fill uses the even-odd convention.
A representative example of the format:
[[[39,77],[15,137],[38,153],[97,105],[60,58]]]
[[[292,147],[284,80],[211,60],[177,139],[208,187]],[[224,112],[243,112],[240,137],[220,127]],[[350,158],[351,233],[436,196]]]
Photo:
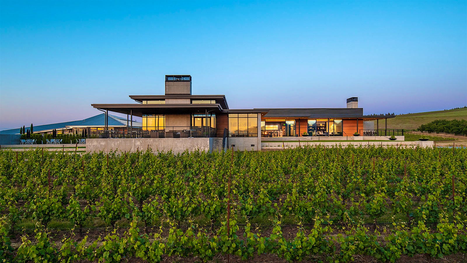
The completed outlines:
[[[300,141],[298,142],[262,142],[261,147],[263,150],[267,149],[283,149],[283,148],[295,148],[298,146],[402,146],[402,147],[433,147],[433,141],[341,141],[341,142],[326,142],[326,141]]]

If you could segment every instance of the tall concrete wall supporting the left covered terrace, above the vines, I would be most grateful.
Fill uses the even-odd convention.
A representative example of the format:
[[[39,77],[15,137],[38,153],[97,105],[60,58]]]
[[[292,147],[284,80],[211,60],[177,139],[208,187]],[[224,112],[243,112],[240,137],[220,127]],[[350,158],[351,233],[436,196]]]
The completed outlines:
[[[182,153],[209,152],[212,149],[214,138],[161,138],[161,139],[86,139],[86,152],[136,152],[146,151],[148,147],[153,152]]]

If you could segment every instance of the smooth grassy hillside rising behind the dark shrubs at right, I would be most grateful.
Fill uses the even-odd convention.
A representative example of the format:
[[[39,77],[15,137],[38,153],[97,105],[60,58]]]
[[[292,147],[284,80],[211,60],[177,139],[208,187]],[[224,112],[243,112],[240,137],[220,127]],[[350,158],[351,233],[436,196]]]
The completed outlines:
[[[388,119],[388,129],[417,129],[421,124],[426,124],[434,120],[467,120],[467,109],[457,110],[439,110],[411,114],[397,115],[395,118]],[[384,120],[380,120],[380,127],[384,126]],[[376,121],[375,121],[376,127]]]

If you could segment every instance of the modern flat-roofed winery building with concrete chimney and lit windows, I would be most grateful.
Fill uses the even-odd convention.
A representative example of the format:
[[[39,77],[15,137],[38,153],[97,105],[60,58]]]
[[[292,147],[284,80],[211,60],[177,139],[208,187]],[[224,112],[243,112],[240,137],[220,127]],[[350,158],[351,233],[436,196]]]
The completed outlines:
[[[127,115],[126,131],[104,128],[100,138],[218,138],[228,141],[227,147],[260,150],[262,139],[275,137],[388,135],[386,122],[381,129],[378,121],[376,127],[364,125],[394,117],[363,115],[357,97],[348,98],[346,108],[230,109],[225,95],[192,95],[191,87],[190,75],[166,75],[165,95],[130,95],[135,103],[129,104],[92,104],[106,116]],[[134,116],[142,117],[141,129],[132,128]]]

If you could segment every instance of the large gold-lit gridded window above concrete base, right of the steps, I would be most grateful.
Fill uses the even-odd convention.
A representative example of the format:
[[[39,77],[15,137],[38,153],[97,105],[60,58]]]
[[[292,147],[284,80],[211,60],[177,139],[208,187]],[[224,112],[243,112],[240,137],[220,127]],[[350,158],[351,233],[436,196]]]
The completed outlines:
[[[230,137],[258,137],[258,114],[229,114]]]

